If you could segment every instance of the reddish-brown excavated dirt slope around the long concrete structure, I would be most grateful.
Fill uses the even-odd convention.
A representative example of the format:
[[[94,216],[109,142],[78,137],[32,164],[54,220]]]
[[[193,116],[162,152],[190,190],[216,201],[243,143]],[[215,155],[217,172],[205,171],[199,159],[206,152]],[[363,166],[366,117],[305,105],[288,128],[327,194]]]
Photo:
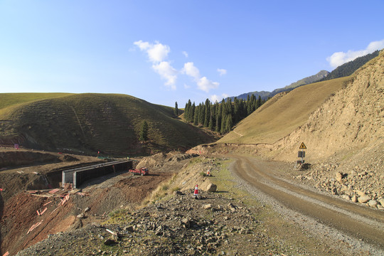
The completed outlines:
[[[0,255],[5,252],[16,255],[16,252],[48,238],[49,235],[76,230],[87,223],[100,223],[113,210],[135,208],[160,183],[171,178],[174,171],[181,169],[189,157],[177,152],[160,154],[154,164],[143,159],[142,164],[149,166],[149,176],[134,176],[124,171],[95,178],[83,184],[80,189],[72,191],[47,189],[50,174],[61,174],[61,169],[66,166],[65,162],[52,164],[48,157],[46,164],[44,158],[17,166],[14,161],[12,167],[0,171],[0,187],[3,188],[0,191]],[[68,156],[58,156],[58,159],[64,158],[69,159]],[[85,164],[82,156],[73,158],[78,161],[66,162],[67,166],[79,164],[81,160]],[[161,168],[164,162],[169,167]],[[27,189],[33,191],[29,190],[28,193]],[[39,215],[37,211],[43,214]],[[36,227],[31,230],[33,226]]]

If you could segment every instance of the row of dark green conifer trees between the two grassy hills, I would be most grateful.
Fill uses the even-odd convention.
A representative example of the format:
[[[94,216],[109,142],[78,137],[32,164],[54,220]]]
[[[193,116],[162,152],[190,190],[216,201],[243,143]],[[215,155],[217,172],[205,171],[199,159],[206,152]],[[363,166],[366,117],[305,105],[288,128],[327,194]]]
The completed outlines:
[[[225,134],[230,132],[233,125],[244,119],[252,112],[257,110],[265,100],[262,97],[256,100],[255,95],[248,95],[247,100],[230,98],[225,101],[224,99],[219,102],[212,103],[210,100],[201,102],[195,105],[195,102],[188,100],[184,108],[184,119],[194,125],[202,125],[208,127],[210,130]]]

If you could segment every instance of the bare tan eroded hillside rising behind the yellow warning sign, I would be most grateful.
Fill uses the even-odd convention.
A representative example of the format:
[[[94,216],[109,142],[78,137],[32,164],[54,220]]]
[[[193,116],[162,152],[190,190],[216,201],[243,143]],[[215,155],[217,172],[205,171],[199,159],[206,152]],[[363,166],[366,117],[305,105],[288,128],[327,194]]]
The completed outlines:
[[[273,146],[270,155],[292,159],[300,142],[305,142],[310,159],[365,148],[383,152],[384,136],[384,52],[351,76],[351,82],[336,92],[305,124]],[[381,154],[383,156],[383,154]],[[294,157],[294,156],[293,156]]]

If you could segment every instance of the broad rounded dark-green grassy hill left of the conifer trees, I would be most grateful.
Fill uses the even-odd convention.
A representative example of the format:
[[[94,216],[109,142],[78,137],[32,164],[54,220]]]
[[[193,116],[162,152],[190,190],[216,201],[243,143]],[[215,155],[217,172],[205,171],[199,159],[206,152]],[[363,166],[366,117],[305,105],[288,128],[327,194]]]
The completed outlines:
[[[0,94],[0,144],[134,155],[188,149],[213,137],[174,117],[173,108],[129,95]],[[143,121],[149,141],[138,140]]]

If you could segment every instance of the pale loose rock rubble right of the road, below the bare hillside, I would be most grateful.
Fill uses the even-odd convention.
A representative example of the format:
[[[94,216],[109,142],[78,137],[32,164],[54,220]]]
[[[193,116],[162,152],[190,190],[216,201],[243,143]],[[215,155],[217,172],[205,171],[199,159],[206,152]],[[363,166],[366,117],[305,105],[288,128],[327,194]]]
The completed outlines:
[[[370,150],[351,159],[335,155],[295,176],[311,186],[353,203],[384,210],[383,151]],[[368,157],[367,157],[368,156]]]

